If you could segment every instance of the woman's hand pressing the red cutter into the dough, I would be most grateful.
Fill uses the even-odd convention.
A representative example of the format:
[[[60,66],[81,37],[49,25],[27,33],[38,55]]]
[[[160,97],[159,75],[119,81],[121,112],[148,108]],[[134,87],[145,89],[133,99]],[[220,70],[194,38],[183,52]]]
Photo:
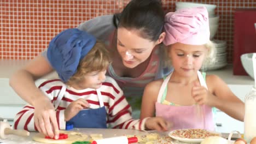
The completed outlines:
[[[34,102],[34,123],[40,133],[55,139],[59,138],[56,112],[49,99],[38,99]]]

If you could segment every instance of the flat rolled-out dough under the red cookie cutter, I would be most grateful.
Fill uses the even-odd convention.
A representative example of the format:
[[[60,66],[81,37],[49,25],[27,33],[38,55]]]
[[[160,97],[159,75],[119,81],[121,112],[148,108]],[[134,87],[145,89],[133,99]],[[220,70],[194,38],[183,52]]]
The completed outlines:
[[[77,131],[65,131],[65,130],[60,130],[60,133],[68,134],[68,138],[64,140],[54,140],[54,139],[45,139],[43,134],[36,134],[33,136],[33,140],[37,142],[42,142],[42,143],[56,143],[56,144],[61,144],[61,143],[73,143],[75,141],[86,141],[88,138],[88,135],[79,133]]]

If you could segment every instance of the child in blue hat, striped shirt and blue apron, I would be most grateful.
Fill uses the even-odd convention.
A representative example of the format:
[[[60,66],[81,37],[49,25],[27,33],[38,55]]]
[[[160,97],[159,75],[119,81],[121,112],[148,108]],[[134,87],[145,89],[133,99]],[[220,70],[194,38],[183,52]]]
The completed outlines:
[[[75,128],[161,129],[161,118],[132,119],[123,91],[105,76],[109,53],[92,35],[67,29],[51,40],[47,57],[61,80],[46,81],[39,88],[53,103],[60,129],[66,122]],[[33,117],[34,106],[26,105],[16,115],[14,128],[48,135]]]

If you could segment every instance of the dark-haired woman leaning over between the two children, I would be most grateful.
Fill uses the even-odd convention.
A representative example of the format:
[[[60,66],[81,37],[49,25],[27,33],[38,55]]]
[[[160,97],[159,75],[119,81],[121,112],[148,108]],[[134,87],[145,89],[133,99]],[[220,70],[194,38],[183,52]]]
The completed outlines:
[[[121,14],[96,17],[78,26],[107,45],[113,58],[107,75],[118,82],[127,100],[135,98],[129,101],[131,105],[140,105],[144,86],[148,82],[170,73],[162,61],[164,48],[159,46],[165,38],[162,32],[164,16],[159,1],[132,0]],[[34,106],[36,126],[45,129],[40,132],[50,137],[59,135],[55,110],[34,81],[53,70],[45,51],[16,71],[10,79],[10,86],[15,92]]]

